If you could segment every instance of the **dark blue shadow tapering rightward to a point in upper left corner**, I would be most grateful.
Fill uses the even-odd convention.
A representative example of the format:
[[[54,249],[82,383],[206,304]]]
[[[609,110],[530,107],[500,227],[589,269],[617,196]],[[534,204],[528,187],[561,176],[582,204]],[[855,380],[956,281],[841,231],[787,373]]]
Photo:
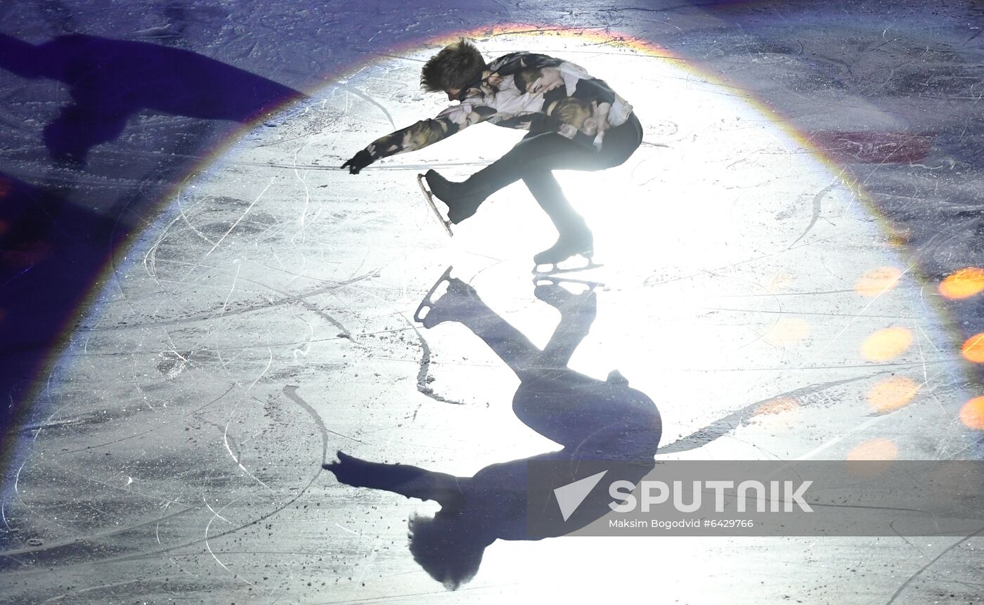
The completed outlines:
[[[133,114],[249,122],[301,93],[187,50],[69,34],[31,44],[0,33],[0,69],[69,87],[71,102],[44,127],[55,159],[84,162]]]

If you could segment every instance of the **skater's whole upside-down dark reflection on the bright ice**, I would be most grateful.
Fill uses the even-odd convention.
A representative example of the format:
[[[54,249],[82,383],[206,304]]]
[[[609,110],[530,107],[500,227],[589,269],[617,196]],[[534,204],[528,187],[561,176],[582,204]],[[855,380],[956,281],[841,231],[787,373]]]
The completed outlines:
[[[410,520],[409,547],[414,560],[434,579],[457,588],[478,571],[485,547],[497,539],[535,540],[569,533],[609,513],[607,490],[593,489],[567,519],[555,488],[598,472],[606,484],[619,479],[637,484],[654,465],[661,423],[652,400],[629,387],[617,371],[600,381],[567,367],[587,335],[596,313],[593,289],[574,294],[557,280],[535,286],[538,299],[555,307],[561,321],[541,350],[496,315],[475,290],[460,279],[442,275],[425,297],[416,320],[425,328],[458,322],[485,343],[516,373],[521,385],[513,411],[530,429],[562,446],[561,450],[492,464],[473,476],[457,477],[406,464],[378,463],[338,452],[325,464],[338,481],[354,487],[386,490],[441,505],[433,517]],[[447,290],[437,300],[439,286]],[[548,468],[549,472],[536,471]],[[527,497],[530,489],[542,498]],[[541,479],[541,476],[549,479]],[[527,526],[527,514],[533,513]],[[570,513],[570,511],[568,511]]]

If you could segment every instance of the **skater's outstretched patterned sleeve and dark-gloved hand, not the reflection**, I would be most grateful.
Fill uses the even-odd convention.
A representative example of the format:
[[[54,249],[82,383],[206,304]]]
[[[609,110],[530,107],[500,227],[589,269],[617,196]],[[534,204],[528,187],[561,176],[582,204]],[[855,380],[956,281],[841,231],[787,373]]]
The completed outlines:
[[[465,99],[460,105],[452,105],[436,118],[420,120],[415,124],[380,137],[341,165],[352,174],[381,157],[389,157],[406,151],[422,150],[428,145],[459,133],[472,124],[483,122],[495,114],[495,109],[476,105]]]

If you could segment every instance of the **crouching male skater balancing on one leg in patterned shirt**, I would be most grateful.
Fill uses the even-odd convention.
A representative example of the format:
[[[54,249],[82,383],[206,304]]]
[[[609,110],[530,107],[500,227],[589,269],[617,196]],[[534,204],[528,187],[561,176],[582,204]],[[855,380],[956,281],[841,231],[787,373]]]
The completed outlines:
[[[533,261],[556,264],[577,254],[590,259],[591,232],[565,199],[553,170],[601,170],[628,159],[643,139],[632,105],[573,63],[513,52],[486,64],[464,38],[427,61],[420,85],[461,102],[377,139],[341,167],[355,174],[380,157],[422,149],[478,122],[528,130],[516,147],[467,180],[451,182],[428,170],[427,184],[457,224],[491,194],[523,179],[560,233]]]

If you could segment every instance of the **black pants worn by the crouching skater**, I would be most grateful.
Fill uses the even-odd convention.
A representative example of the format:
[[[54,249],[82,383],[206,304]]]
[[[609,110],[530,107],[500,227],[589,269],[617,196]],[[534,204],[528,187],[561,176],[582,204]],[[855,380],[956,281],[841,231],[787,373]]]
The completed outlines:
[[[522,178],[561,237],[575,235],[586,231],[584,218],[564,197],[553,171],[611,168],[629,159],[642,142],[643,126],[635,113],[629,114],[624,124],[605,132],[600,150],[557,133],[529,133],[508,153],[471,175],[465,184],[471,191],[491,195]]]

